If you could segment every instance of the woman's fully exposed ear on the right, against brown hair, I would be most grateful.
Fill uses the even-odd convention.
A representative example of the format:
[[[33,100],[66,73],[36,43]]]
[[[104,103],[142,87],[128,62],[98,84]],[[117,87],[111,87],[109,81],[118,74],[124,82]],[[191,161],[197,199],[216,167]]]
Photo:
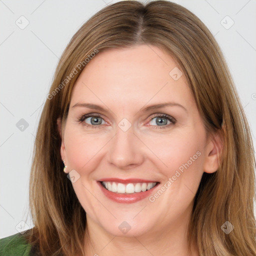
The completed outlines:
[[[213,173],[220,165],[220,157],[223,148],[223,134],[221,131],[222,129],[212,134],[206,145],[206,155],[203,164],[204,172]]]

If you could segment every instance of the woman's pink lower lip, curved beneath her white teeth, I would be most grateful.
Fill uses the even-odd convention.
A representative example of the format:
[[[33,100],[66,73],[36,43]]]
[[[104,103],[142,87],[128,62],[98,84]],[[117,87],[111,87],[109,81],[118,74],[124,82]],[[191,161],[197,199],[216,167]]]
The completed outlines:
[[[106,188],[104,188],[100,181],[97,181],[97,182],[99,184],[101,191],[106,197],[108,197],[109,199],[115,202],[121,202],[121,203],[132,203],[132,202],[137,202],[139,200],[142,200],[145,197],[148,197],[152,193],[152,191],[155,189],[155,187],[157,187],[159,184],[157,183],[154,187],[144,192],[141,191],[138,193],[124,194],[124,193],[111,192]]]

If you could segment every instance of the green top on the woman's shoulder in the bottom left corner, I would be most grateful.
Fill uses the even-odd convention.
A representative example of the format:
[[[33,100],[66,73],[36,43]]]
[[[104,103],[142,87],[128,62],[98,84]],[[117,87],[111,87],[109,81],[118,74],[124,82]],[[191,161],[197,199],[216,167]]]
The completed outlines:
[[[0,256],[29,256],[30,249],[20,233],[0,239]]]

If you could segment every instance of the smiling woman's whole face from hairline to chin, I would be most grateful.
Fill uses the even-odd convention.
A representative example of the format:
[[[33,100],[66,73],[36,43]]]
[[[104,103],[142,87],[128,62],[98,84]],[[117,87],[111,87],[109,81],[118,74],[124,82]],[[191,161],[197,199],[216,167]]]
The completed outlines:
[[[156,46],[100,52],[75,82],[61,156],[88,225],[133,236],[186,224],[213,147],[185,76]]]

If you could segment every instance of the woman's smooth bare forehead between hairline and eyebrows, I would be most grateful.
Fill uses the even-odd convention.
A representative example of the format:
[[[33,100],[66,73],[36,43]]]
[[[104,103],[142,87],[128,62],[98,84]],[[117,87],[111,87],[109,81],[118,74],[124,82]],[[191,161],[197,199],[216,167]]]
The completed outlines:
[[[189,102],[193,99],[184,75],[173,79],[171,70],[177,73],[177,68],[173,57],[154,45],[99,52],[77,78],[70,104],[84,100],[122,106],[144,105],[149,100]]]

